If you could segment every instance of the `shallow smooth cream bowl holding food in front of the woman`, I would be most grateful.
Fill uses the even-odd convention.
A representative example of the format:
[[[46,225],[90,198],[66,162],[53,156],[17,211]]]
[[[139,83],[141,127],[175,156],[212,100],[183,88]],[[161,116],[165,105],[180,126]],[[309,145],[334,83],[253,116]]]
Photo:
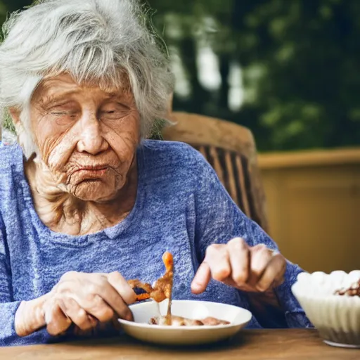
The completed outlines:
[[[230,324],[219,326],[158,326],[150,325],[148,322],[154,316],[166,314],[167,300],[160,304],[154,301],[134,304],[130,306],[130,309],[134,314],[134,322],[119,319],[125,333],[139,340],[162,345],[201,345],[225,340],[246,326],[252,317],[250,311],[233,305],[173,300],[173,315],[198,320],[212,316],[230,321]]]

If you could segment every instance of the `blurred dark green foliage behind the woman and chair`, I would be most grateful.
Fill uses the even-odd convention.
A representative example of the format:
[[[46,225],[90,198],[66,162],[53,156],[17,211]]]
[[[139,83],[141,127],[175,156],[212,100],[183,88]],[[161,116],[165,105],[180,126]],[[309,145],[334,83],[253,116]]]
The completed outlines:
[[[185,110],[250,127],[259,150],[360,143],[359,0],[140,0],[157,9],[155,29],[184,68]],[[31,1],[0,0],[0,17]],[[221,84],[199,79],[200,45],[217,56]],[[231,64],[245,98],[229,108]],[[233,79],[232,79],[233,80]]]

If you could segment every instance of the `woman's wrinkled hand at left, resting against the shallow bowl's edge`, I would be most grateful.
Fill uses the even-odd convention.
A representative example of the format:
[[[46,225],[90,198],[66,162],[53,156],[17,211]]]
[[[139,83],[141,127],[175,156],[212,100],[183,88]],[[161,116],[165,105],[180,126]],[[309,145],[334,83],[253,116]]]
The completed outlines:
[[[132,320],[127,305],[136,294],[118,272],[64,274],[50,293],[22,302],[15,314],[15,331],[26,336],[46,326],[51,335],[59,335],[75,324],[81,330],[106,323],[114,316]]]

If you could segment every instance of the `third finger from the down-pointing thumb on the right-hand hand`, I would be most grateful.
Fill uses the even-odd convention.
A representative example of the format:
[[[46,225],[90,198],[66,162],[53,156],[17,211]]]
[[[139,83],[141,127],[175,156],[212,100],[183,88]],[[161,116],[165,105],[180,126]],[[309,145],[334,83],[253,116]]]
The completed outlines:
[[[256,287],[259,278],[262,277],[266,266],[269,264],[273,254],[265,245],[256,245],[250,249],[250,274],[248,284]]]

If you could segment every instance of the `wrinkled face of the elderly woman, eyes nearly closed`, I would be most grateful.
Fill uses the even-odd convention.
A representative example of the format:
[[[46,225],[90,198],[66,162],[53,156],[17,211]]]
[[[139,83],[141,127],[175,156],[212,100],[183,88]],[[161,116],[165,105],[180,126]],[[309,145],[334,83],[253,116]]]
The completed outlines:
[[[34,140],[53,179],[82,200],[115,198],[134,166],[139,113],[131,90],[44,80],[31,103]]]

